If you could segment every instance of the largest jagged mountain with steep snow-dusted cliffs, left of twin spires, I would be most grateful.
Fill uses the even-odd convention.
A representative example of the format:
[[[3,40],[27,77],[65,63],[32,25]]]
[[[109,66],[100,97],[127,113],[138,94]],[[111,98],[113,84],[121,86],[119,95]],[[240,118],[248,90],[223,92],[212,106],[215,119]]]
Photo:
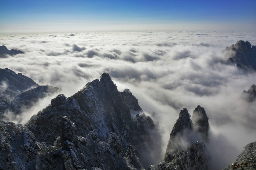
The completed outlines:
[[[137,114],[131,116],[130,109]],[[12,135],[4,128],[6,124],[2,121],[0,128],[4,138]],[[15,149],[18,144],[2,143],[9,147],[5,152],[10,160],[16,161],[16,152],[22,153],[24,161],[16,161],[17,167],[29,163],[31,169],[140,170],[156,162],[161,151],[160,133],[153,120],[143,113],[132,93],[117,90],[107,73],[69,98],[56,96],[26,127],[13,126],[18,133],[26,130],[31,134],[29,148],[33,150],[23,154],[22,148]],[[26,156],[31,160],[25,161]],[[6,163],[1,166],[9,168]]]

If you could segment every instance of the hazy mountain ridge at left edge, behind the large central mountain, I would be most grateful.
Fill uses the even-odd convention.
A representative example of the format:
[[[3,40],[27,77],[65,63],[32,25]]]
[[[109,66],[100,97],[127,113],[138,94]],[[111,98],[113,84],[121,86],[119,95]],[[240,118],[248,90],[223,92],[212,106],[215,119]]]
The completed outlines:
[[[19,114],[58,90],[51,85],[38,85],[31,78],[8,68],[0,68],[0,119],[6,110]]]

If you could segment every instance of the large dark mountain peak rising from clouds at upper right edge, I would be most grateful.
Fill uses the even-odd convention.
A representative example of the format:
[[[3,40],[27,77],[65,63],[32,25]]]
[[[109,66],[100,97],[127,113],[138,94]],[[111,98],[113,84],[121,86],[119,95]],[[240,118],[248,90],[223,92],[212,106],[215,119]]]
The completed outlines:
[[[226,48],[231,51],[232,56],[228,59],[228,63],[236,64],[238,68],[245,70],[256,70],[256,46],[250,42],[238,41],[236,44]]]

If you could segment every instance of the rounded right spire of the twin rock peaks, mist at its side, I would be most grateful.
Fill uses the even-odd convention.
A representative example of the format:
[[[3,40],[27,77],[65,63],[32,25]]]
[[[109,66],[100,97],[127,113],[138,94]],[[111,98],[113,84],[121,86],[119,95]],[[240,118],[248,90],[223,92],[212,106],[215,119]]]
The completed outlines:
[[[203,107],[198,105],[195,110],[193,110],[192,122],[194,124],[194,131],[198,132],[203,140],[208,140],[209,132],[209,118]]]

